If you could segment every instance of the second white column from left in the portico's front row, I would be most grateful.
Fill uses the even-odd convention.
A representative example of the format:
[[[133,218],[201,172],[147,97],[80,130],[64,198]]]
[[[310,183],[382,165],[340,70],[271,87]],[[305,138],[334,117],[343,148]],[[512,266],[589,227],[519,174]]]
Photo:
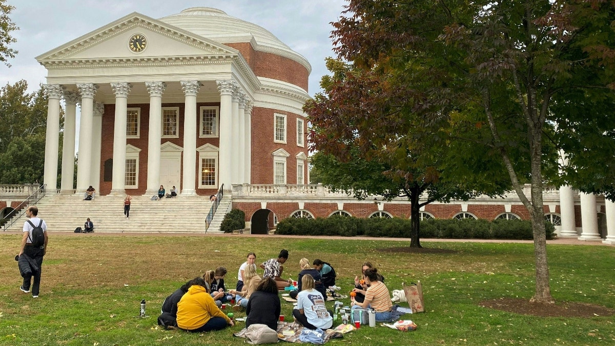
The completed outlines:
[[[98,86],[92,83],[77,84],[81,92],[81,119],[79,123],[79,161],[77,161],[77,196],[92,185],[92,126],[94,94]]]

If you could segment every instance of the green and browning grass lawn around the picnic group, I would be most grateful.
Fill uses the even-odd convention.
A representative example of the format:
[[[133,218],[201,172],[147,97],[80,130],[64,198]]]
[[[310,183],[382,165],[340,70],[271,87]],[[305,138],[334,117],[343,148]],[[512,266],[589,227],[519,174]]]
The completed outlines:
[[[395,251],[409,241],[52,233],[41,294],[33,299],[19,290],[21,277],[14,256],[20,239],[20,235],[0,236],[0,345],[244,345],[245,339],[232,336],[244,327],[240,322],[200,335],[158,328],[162,301],[181,284],[219,265],[228,269],[227,289],[234,288],[237,269],[248,252],[256,252],[256,264],[260,264],[277,257],[280,249],[290,252],[285,278],[296,278],[301,257],[319,258],[335,267],[343,294],[352,289],[365,260],[383,273],[389,291],[401,289],[402,282],[423,283],[426,313],[405,315],[418,325],[416,331],[362,326],[343,339],[331,340],[330,345],[615,343],[615,316],[541,318],[479,306],[487,299],[531,298],[531,244],[423,241],[424,247],[450,251],[416,254]],[[547,246],[551,290],[557,302],[615,308],[614,250]],[[149,318],[136,317],[141,299],[147,302]],[[349,300],[345,302],[348,305]],[[292,316],[292,304],[282,300],[282,312]]]

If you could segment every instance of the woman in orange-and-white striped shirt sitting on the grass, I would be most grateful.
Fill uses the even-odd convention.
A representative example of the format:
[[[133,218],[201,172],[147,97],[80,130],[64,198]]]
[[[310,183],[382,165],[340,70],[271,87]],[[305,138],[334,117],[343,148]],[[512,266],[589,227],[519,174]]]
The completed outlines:
[[[362,291],[365,295],[365,300],[362,303],[354,300],[351,297],[351,308],[373,308],[376,310],[376,321],[393,321],[399,318],[398,315],[391,313],[393,304],[391,303],[391,294],[389,289],[378,281],[378,269],[371,268],[365,270],[363,280],[368,285],[366,291]],[[359,289],[352,289],[352,292],[359,292]]]

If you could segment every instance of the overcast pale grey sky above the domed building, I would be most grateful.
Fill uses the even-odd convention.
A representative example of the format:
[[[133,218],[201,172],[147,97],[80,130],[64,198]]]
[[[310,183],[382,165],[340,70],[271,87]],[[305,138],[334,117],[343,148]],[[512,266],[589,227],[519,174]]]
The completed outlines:
[[[28,81],[30,91],[46,82],[46,70],[34,57],[61,46],[83,34],[132,12],[152,18],[177,14],[189,7],[213,7],[269,30],[312,65],[309,94],[320,91],[319,82],[327,74],[324,59],[333,56],[332,26],[345,0],[8,0],[15,6],[10,14],[20,30],[10,47],[19,51],[10,59],[12,67],[0,65],[0,85]]]

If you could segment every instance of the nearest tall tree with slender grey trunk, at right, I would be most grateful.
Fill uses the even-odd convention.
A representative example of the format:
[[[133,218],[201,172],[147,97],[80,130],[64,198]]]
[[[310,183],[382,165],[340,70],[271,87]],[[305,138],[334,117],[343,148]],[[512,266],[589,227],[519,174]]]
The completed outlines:
[[[566,120],[571,113],[587,131],[612,138],[612,127],[605,134],[605,124],[595,122],[613,103],[613,20],[614,2],[606,0],[350,0],[334,23],[339,57],[370,68],[391,89],[405,93],[397,108],[421,111],[426,126],[448,128],[455,139],[477,140],[470,124],[489,129],[483,143],[498,151],[531,216],[533,301],[554,302],[542,203],[543,184],[557,172],[551,169],[554,156],[546,155],[548,145],[578,137]],[[595,104],[577,110],[584,103]],[[397,135],[425,133],[415,129]],[[587,143],[568,148],[592,150]],[[522,186],[527,180],[529,197]]]

